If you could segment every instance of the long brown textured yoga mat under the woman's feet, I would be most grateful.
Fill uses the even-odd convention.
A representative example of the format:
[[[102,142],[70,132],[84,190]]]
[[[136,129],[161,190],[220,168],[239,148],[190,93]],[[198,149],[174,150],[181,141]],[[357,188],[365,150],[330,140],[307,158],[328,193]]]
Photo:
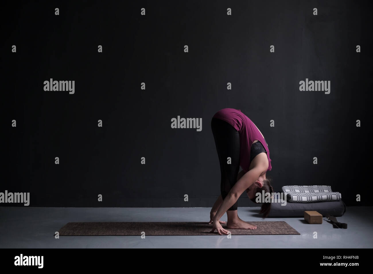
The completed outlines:
[[[284,221],[248,222],[257,229],[228,229],[232,235],[282,235],[300,233]],[[222,224],[226,228],[226,224]],[[60,236],[219,235],[208,222],[91,222],[67,223]]]

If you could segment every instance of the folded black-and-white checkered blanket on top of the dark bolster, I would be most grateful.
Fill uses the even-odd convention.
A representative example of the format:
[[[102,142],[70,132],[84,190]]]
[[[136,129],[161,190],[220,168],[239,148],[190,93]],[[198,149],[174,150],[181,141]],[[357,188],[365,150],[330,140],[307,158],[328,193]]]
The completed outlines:
[[[323,201],[339,201],[342,196],[339,192],[332,192],[330,186],[283,186],[288,202],[309,203]]]

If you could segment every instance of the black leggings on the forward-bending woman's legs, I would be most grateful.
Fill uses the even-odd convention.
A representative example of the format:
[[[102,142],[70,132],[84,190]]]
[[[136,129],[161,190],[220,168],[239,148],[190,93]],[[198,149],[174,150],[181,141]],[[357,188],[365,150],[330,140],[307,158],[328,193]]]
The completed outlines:
[[[239,132],[228,122],[217,118],[212,118],[211,130],[219,157],[221,174],[220,193],[224,200],[237,181],[240,151]],[[227,163],[228,157],[231,157],[232,162],[230,164]],[[237,210],[237,202],[228,210]]]

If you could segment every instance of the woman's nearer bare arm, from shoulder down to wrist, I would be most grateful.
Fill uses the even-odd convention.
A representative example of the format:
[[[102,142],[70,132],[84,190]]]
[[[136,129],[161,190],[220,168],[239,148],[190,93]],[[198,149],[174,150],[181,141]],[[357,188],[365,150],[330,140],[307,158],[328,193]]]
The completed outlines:
[[[216,212],[214,222],[220,220],[224,213],[238,200],[242,192],[258,180],[261,173],[263,173],[263,167],[258,165],[250,169],[235,183]]]

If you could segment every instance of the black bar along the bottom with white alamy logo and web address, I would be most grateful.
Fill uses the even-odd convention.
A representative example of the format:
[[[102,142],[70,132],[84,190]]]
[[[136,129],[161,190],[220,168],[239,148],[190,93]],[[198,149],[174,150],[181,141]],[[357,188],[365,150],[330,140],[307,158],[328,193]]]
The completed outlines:
[[[249,269],[302,269],[354,271],[369,267],[371,249],[1,249],[2,269],[35,270],[107,270],[112,267],[138,267],[143,271],[181,270],[219,265],[247,265]],[[234,255],[233,255],[234,254]],[[228,264],[228,265],[227,265]],[[5,268],[4,268],[5,267]],[[283,268],[285,267],[285,268]],[[229,267],[230,268],[230,267]],[[159,271],[157,270],[157,271]],[[218,271],[221,271],[217,268]]]

